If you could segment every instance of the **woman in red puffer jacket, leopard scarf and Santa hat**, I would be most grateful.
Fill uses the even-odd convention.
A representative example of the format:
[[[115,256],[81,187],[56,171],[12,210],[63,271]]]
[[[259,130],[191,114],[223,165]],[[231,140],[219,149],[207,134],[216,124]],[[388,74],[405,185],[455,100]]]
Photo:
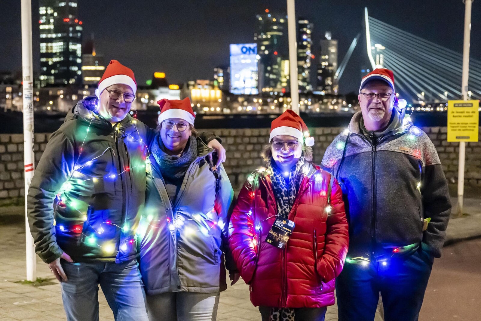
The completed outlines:
[[[304,135],[304,121],[291,110],[272,122],[268,168],[247,180],[230,218],[229,246],[266,321],[324,320],[347,253],[341,188],[309,163],[313,138],[304,143]],[[277,219],[288,229],[295,224],[285,245],[272,235],[266,241]]]

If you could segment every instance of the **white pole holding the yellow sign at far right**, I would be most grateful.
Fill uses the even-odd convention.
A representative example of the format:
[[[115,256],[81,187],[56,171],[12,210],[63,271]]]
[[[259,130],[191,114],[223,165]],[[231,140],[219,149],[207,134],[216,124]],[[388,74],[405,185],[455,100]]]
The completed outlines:
[[[461,80],[461,94],[463,100],[468,99],[468,78],[469,78],[469,39],[471,35],[471,4],[473,0],[464,0],[464,41],[463,41],[463,76]],[[463,215],[464,197],[464,161],[466,158],[466,142],[459,142],[459,162],[457,167],[457,213],[458,217]]]

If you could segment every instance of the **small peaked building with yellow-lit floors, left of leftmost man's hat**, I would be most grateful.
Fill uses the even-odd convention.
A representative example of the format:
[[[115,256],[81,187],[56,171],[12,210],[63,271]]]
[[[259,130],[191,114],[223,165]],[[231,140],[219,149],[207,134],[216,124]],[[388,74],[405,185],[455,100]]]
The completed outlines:
[[[103,56],[95,51],[95,44],[92,39],[86,41],[82,46],[82,84],[97,86],[105,71]]]

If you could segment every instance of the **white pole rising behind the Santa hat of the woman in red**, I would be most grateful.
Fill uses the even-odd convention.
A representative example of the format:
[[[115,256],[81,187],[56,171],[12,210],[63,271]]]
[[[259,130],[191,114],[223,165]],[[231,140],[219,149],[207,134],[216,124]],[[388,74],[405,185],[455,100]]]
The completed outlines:
[[[287,0],[287,29],[289,36],[291,109],[299,115],[299,80],[297,76],[297,21],[295,0]]]

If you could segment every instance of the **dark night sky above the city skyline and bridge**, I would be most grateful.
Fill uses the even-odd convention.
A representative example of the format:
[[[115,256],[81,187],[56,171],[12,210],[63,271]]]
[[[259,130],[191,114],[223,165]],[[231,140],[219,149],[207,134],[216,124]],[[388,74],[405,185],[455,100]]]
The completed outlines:
[[[325,31],[339,40],[339,62],[369,15],[419,37],[462,52],[462,0],[296,0],[297,17],[314,23],[316,62]],[[20,1],[2,1],[0,70],[20,71]],[[154,71],[170,83],[212,78],[216,65],[228,65],[230,43],[253,42],[255,15],[266,8],[286,12],[285,0],[78,0],[84,39],[95,34],[98,54],[131,67],[139,84]],[[32,0],[34,70],[39,69],[38,0]],[[471,51],[481,60],[481,3],[473,2]],[[356,91],[360,80],[356,48],[340,81],[341,93]],[[314,69],[313,69],[314,71]]]

